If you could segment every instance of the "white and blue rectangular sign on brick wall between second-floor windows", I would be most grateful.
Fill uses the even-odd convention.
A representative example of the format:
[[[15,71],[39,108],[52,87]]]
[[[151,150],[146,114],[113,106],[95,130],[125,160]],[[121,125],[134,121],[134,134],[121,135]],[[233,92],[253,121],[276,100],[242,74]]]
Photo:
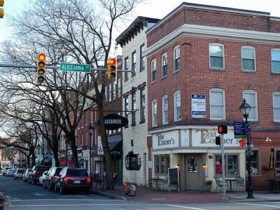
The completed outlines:
[[[205,94],[192,94],[192,118],[206,118]]]

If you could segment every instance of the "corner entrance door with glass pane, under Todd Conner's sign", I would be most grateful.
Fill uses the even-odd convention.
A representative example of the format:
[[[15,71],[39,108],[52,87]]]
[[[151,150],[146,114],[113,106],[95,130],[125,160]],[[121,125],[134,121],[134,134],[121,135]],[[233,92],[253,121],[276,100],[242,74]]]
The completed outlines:
[[[200,190],[201,157],[188,155],[185,158],[186,190]]]

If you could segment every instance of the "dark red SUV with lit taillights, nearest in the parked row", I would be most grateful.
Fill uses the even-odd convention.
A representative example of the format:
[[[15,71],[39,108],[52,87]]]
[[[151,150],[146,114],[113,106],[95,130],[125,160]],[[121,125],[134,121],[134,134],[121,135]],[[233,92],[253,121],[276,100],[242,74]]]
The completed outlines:
[[[90,176],[85,169],[64,167],[57,176],[55,192],[64,194],[66,190],[82,191],[86,195],[90,194]]]

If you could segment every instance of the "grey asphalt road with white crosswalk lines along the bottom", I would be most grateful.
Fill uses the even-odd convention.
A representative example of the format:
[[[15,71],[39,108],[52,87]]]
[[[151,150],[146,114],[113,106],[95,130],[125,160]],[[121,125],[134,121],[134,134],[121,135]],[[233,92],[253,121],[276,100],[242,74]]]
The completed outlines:
[[[59,195],[43,187],[33,186],[20,180],[0,176],[0,191],[8,196],[10,203],[5,209],[194,209],[194,210],[236,210],[280,209],[280,202],[221,202],[211,204],[160,204],[152,202],[127,202],[113,200],[98,195],[66,194]]]

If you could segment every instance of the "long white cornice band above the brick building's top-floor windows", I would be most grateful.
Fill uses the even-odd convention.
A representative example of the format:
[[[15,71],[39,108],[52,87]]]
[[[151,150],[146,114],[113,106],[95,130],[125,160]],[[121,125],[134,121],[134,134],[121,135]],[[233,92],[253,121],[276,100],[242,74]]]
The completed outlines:
[[[278,33],[185,24],[147,48],[144,52],[144,56],[151,57],[151,55],[162,50],[162,48],[166,48],[169,43],[172,43],[183,36],[195,38],[219,38],[228,41],[249,41],[263,44],[280,44],[280,34]]]

